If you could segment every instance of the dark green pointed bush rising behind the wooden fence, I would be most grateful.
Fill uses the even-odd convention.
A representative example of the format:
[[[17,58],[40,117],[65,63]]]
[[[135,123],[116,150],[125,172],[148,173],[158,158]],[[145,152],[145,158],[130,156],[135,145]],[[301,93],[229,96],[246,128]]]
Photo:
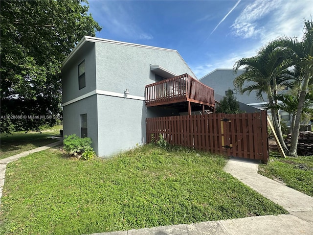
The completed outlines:
[[[240,112],[239,102],[230,89],[228,89],[228,92],[220,101],[220,104],[218,104],[215,112],[225,114],[238,114]]]

